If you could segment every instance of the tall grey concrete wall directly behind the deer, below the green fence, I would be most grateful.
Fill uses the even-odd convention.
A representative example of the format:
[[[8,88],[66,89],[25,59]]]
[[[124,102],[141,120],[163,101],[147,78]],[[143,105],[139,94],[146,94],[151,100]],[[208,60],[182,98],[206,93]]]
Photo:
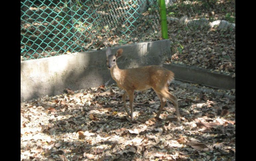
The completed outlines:
[[[170,40],[135,43],[123,48],[118,59],[120,69],[159,65],[171,54]],[[65,88],[79,90],[113,83],[106,66],[106,53],[81,52],[36,60],[21,61],[21,101],[64,93]]]

